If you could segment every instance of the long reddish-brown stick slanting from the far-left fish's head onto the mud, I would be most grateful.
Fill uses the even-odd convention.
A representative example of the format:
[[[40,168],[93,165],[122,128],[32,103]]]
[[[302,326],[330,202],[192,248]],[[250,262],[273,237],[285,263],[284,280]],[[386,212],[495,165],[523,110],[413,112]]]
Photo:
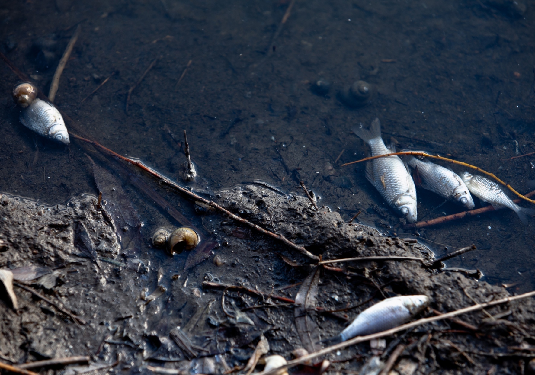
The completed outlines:
[[[262,228],[262,227],[260,227],[260,226],[258,226],[256,224],[251,223],[249,220],[246,220],[246,219],[243,219],[243,218],[241,218],[239,216],[234,215],[234,213],[232,213],[231,211],[228,211],[227,209],[221,207],[216,202],[209,201],[209,200],[207,200],[207,199],[205,199],[205,198],[203,198],[201,196],[198,196],[197,194],[191,192],[190,190],[181,187],[180,185],[178,185],[178,183],[170,180],[169,178],[165,177],[163,174],[158,173],[154,169],[144,165],[141,162],[141,160],[129,159],[127,157],[124,157],[122,155],[117,154],[117,152],[114,152],[114,151],[110,150],[109,148],[106,148],[106,147],[102,146],[102,144],[100,144],[98,142],[88,140],[86,138],[83,138],[83,137],[81,137],[81,136],[79,136],[77,134],[71,133],[71,132],[69,132],[69,134],[75,139],[78,139],[80,141],[93,144],[93,146],[95,146],[96,148],[101,149],[101,150],[103,150],[105,152],[108,152],[108,154],[113,155],[115,157],[118,157],[119,159],[124,160],[127,163],[135,165],[136,167],[139,167],[141,170],[143,170],[143,171],[149,173],[150,175],[152,175],[152,177],[158,178],[162,183],[165,183],[166,185],[169,185],[169,186],[179,190],[179,192],[189,196],[190,198],[193,198],[196,201],[201,201],[204,204],[208,204],[208,205],[212,206],[213,208],[225,213],[230,219],[235,220],[235,221],[239,221],[240,223],[245,224],[245,225],[249,226],[250,228],[253,228],[253,229],[255,229],[256,231],[258,231],[258,232],[260,232],[262,234],[269,235],[274,239],[277,239],[277,240],[279,240],[281,242],[284,242],[287,246],[289,246],[289,247],[301,252],[301,254],[303,254],[303,255],[311,258],[311,259],[315,259],[316,261],[319,261],[319,257],[317,255],[312,254],[310,251],[308,251],[307,249],[305,249],[302,246],[297,246],[295,243],[293,243],[292,241],[288,240],[285,236],[283,236],[281,234],[276,234],[276,233],[273,233],[273,232],[270,232],[270,231],[266,231],[266,229],[264,229],[264,228]]]

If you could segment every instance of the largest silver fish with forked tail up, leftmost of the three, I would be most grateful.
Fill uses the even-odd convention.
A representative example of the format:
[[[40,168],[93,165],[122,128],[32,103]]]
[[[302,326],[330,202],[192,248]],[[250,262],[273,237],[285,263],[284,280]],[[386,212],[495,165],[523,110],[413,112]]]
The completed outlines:
[[[387,148],[381,139],[381,123],[376,118],[370,129],[354,126],[353,132],[368,143],[372,156],[395,152],[394,147]],[[371,160],[366,164],[366,178],[393,208],[401,212],[409,223],[417,219],[416,187],[410,177],[407,166],[397,156],[387,156]]]

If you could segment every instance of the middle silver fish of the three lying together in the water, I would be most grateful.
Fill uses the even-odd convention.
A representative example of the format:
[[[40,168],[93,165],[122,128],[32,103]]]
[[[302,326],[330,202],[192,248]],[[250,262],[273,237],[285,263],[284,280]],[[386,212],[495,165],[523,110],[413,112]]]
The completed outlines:
[[[455,172],[412,155],[403,159],[410,167],[418,171],[424,189],[431,190],[442,198],[458,202],[469,210],[473,209],[472,196],[463,180]]]

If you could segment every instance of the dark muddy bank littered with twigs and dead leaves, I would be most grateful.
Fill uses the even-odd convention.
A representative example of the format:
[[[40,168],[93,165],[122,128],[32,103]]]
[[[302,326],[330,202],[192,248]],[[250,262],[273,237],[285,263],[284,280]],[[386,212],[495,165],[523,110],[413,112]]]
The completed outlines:
[[[216,198],[323,262],[211,215],[226,245],[213,262],[189,273],[155,272],[151,261],[158,259],[149,252],[139,253],[143,260],[132,249],[118,256],[117,228],[96,197],[46,206],[3,194],[0,267],[14,275],[18,311],[3,294],[2,360],[15,366],[47,360],[58,373],[69,358],[90,363],[68,365],[65,373],[250,373],[279,358],[266,361],[265,355],[291,359],[292,352],[321,349],[320,340],[386,297],[427,295],[430,309],[421,316],[434,316],[509,295],[463,272],[437,270],[421,244],[347,224],[326,207],[316,210],[307,197],[249,184],[221,190]],[[392,260],[325,262],[380,256]],[[534,318],[533,300],[509,302],[350,346],[288,371],[519,371],[535,357]]]

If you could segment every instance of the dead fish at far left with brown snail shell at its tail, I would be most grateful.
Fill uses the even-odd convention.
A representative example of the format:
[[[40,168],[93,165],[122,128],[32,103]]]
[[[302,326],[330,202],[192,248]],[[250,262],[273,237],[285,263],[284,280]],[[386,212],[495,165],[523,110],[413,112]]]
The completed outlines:
[[[52,103],[36,96],[37,88],[29,82],[19,83],[13,89],[13,100],[22,108],[19,118],[22,125],[51,140],[69,144],[61,113]]]

